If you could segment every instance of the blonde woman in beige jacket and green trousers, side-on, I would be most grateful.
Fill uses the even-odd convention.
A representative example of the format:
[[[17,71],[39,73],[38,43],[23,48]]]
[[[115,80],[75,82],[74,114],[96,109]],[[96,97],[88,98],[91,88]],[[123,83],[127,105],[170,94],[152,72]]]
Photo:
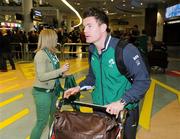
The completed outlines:
[[[51,125],[55,103],[62,91],[59,78],[69,70],[68,63],[59,67],[59,60],[55,54],[56,45],[57,34],[54,30],[45,29],[40,32],[34,57],[36,81],[32,93],[36,105],[37,121],[30,139],[40,139],[48,121],[49,126]]]

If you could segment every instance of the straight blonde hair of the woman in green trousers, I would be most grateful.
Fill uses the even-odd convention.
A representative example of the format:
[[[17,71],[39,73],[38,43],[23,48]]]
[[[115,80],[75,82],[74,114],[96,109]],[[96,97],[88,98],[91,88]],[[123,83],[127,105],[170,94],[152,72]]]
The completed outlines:
[[[49,49],[51,52],[55,53],[57,49],[57,34],[52,29],[43,29],[39,34],[38,39],[38,48],[36,50],[39,51],[43,48]]]

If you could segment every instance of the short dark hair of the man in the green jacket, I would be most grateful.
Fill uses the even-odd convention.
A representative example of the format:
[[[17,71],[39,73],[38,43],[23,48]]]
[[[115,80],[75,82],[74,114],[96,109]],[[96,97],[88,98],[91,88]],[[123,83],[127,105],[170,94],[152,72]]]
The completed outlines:
[[[100,10],[95,7],[91,7],[83,13],[83,19],[91,16],[95,17],[96,20],[100,22],[100,24],[106,24],[107,27],[109,26],[108,16],[103,10]]]

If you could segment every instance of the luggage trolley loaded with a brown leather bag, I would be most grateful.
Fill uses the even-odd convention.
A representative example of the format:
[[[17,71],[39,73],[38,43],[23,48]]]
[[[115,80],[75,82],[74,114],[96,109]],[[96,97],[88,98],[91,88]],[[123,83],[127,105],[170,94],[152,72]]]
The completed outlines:
[[[123,139],[123,128],[127,110],[122,110],[118,118],[110,114],[82,113],[78,111],[61,111],[67,104],[66,99],[58,100],[57,112],[49,132],[49,139]],[[69,104],[106,111],[105,106],[80,101]]]

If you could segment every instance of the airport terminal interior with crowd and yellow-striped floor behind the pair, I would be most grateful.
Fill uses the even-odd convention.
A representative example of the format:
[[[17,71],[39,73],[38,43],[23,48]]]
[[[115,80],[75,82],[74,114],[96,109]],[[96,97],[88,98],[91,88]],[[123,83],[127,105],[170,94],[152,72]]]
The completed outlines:
[[[70,64],[68,74],[74,75],[77,84],[85,79],[89,44],[80,17],[90,6],[106,11],[112,36],[137,47],[138,38],[148,38],[151,85],[140,101],[136,139],[180,139],[179,0],[0,0],[0,48],[3,34],[11,35],[7,45],[14,60],[14,65],[7,60],[7,68],[0,63],[0,139],[30,139],[36,121],[33,58],[43,28],[52,28],[58,34],[60,65]],[[61,79],[62,86],[64,82]],[[91,91],[82,91],[80,101],[91,103]],[[81,106],[80,111],[92,109]],[[47,139],[48,134],[47,126],[41,139]]]

